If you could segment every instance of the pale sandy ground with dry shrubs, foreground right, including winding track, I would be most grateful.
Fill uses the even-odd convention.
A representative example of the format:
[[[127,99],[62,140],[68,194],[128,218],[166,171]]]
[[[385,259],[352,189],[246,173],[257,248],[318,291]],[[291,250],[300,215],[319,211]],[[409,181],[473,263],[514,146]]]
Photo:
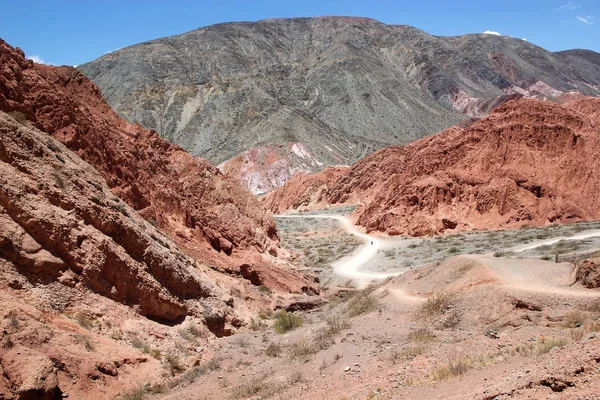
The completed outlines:
[[[331,233],[330,219],[314,224]],[[296,313],[303,325],[282,334],[277,315],[260,313],[157,398],[600,398],[600,291],[574,282],[570,262],[542,259],[595,251],[597,223],[415,239],[334,219],[364,244],[323,267],[330,282],[404,273],[358,291],[330,285],[329,304]]]

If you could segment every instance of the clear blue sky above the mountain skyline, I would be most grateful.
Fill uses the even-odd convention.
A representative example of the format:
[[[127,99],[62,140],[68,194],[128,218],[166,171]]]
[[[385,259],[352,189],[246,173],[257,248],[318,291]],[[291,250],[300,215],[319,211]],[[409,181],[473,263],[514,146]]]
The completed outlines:
[[[434,35],[485,31],[551,51],[600,52],[598,0],[54,0],[2,1],[0,37],[28,57],[77,65],[202,26],[265,18],[352,15]]]

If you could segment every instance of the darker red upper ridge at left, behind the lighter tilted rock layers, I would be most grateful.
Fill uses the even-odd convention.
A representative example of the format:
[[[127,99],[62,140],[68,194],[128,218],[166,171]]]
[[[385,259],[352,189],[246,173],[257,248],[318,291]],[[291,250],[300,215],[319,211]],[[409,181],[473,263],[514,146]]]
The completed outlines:
[[[220,268],[250,263],[264,276],[281,273],[264,282],[273,289],[307,285],[269,261],[266,253],[278,252],[274,220],[236,180],[120,119],[74,68],[35,64],[1,40],[0,68],[0,110],[22,113],[93,165],[115,195],[185,253]]]

